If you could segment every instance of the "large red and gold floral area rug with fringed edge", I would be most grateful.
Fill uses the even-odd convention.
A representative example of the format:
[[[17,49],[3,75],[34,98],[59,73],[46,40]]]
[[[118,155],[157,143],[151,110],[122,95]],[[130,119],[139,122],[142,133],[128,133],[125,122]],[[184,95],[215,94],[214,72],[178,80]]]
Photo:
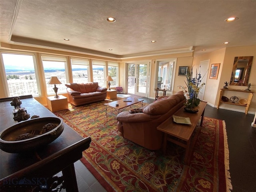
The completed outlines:
[[[105,100],[54,112],[86,138],[90,147],[82,163],[108,192],[230,192],[229,152],[225,122],[204,117],[188,165],[185,149],[168,142],[151,151],[118,136],[116,117],[105,114]],[[134,105],[139,108],[141,105]],[[128,108],[127,110],[129,110]]]

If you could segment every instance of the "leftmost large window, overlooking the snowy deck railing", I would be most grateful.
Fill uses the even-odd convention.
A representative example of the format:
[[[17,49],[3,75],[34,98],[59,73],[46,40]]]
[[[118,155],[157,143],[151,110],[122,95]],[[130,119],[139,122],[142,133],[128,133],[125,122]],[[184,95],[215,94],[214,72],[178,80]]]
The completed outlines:
[[[34,55],[2,53],[8,94],[10,97],[30,95],[38,96],[38,80]]]

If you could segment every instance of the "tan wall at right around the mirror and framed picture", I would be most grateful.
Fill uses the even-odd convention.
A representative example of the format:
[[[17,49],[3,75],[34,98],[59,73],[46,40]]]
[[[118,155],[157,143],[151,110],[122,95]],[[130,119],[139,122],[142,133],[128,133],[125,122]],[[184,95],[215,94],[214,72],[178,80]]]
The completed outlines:
[[[219,94],[220,89],[223,88],[225,85],[224,82],[230,82],[232,67],[234,63],[234,58],[236,56],[254,56],[252,61],[252,69],[250,72],[250,79],[249,82],[252,85],[251,90],[254,93],[252,98],[252,102],[249,107],[249,113],[255,114],[256,111],[256,46],[239,46],[239,47],[230,47],[230,48],[223,48],[208,54],[203,54],[197,57],[194,57],[193,65],[199,66],[200,61],[210,60],[211,64],[220,63],[220,70],[218,74],[218,79],[213,80],[209,79],[209,73],[207,77],[207,84],[206,90],[204,94],[204,100],[209,102],[210,105],[216,107],[219,101]],[[209,70],[210,70],[209,66]],[[246,86],[228,86],[230,89],[241,89],[245,90]],[[247,93],[242,92],[225,92],[224,96],[230,98],[230,96],[238,96],[239,99],[247,98]],[[221,104],[220,108],[228,109],[228,110],[235,110],[244,112],[244,106],[237,106],[237,105],[230,105],[230,104]]]

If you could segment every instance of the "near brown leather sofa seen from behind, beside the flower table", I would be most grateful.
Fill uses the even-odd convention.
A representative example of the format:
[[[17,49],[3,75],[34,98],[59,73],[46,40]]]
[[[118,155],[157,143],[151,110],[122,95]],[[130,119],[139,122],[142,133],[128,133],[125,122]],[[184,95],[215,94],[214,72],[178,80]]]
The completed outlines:
[[[158,125],[180,109],[185,102],[183,91],[172,96],[160,96],[158,100],[143,107],[143,112],[121,112],[116,116],[119,135],[150,150],[162,146],[163,132]]]

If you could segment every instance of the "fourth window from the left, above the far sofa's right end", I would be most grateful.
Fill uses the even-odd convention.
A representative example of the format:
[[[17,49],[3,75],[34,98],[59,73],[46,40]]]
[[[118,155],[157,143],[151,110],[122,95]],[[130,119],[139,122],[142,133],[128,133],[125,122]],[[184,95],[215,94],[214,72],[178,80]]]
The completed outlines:
[[[98,82],[99,86],[106,87],[105,77],[106,63],[103,61],[92,61],[93,82]]]

